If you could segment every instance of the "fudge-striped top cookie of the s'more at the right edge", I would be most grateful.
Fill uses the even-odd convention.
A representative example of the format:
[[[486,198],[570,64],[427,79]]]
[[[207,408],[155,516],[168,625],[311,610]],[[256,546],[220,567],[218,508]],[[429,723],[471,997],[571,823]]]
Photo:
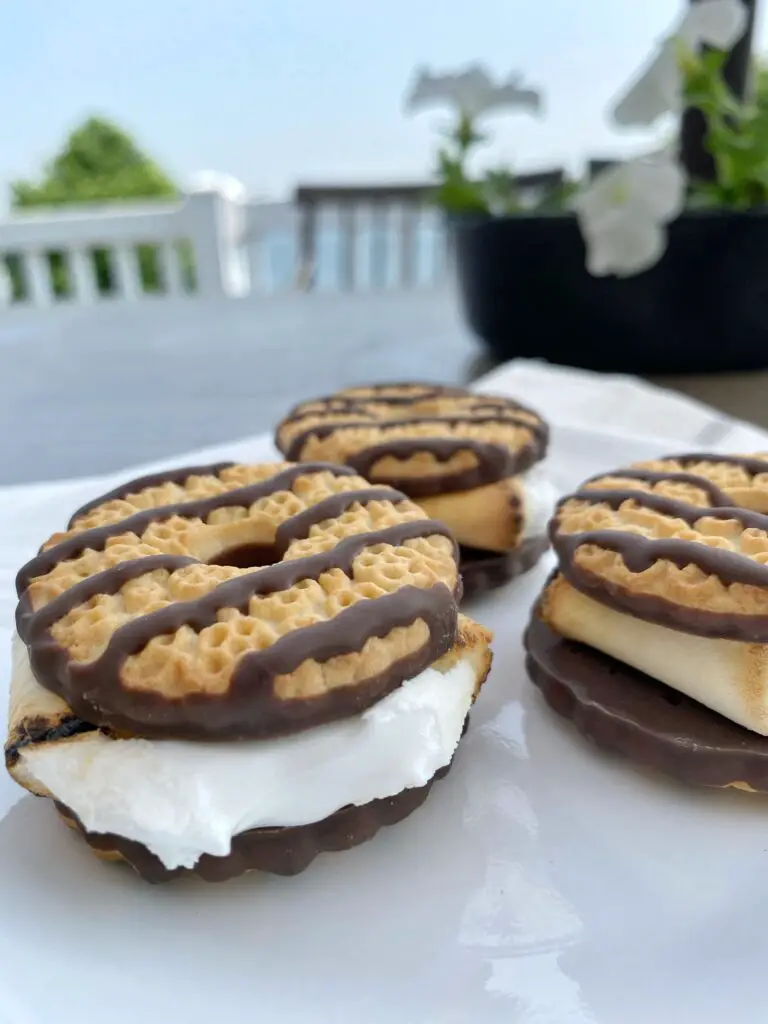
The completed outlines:
[[[670,456],[588,480],[551,537],[565,579],[604,604],[768,643],[766,511],[768,455]]]

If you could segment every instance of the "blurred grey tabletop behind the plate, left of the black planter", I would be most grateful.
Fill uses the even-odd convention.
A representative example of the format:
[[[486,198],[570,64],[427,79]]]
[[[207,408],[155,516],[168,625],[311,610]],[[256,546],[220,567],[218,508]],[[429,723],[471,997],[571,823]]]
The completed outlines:
[[[469,376],[450,293],[145,302],[0,317],[0,485],[121,470],[267,430],[360,381]]]

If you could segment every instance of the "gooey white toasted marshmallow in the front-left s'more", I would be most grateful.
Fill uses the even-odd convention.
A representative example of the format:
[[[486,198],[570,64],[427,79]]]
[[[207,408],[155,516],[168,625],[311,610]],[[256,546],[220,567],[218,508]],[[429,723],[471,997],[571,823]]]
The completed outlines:
[[[52,797],[91,833],[143,844],[173,869],[226,856],[250,828],[309,824],[427,784],[454,756],[490,667],[489,634],[460,617],[439,660],[351,718],[275,739],[206,743],[50,733],[18,746],[14,778]],[[11,723],[69,710],[13,642]],[[15,730],[18,734],[19,730]]]

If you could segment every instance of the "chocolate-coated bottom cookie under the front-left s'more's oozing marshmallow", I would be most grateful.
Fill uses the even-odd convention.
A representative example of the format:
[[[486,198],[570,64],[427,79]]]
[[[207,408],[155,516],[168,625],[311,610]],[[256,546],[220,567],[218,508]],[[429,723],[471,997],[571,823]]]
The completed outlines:
[[[385,825],[402,821],[421,807],[434,781],[451,766],[441,768],[426,785],[403,790],[394,797],[374,800],[361,807],[343,807],[323,821],[287,828],[252,828],[232,839],[225,857],[204,854],[194,868],[167,868],[141,843],[110,833],[86,831],[77,816],[61,804],[56,809],[67,824],[79,831],[96,853],[109,860],[126,860],[146,882],[168,882],[180,874],[197,874],[205,882],[226,882],[246,871],[298,874],[319,853],[351,850],[366,843]]]

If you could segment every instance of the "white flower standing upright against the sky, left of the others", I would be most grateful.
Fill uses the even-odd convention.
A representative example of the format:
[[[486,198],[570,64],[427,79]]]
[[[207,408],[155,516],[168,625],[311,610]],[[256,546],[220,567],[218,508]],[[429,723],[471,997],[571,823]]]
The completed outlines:
[[[538,114],[542,97],[536,89],[523,88],[519,75],[511,74],[505,81],[495,83],[481,65],[472,65],[455,74],[434,75],[429,69],[420,69],[406,108],[414,112],[435,104],[453,106],[474,120],[481,114],[505,108]]]

